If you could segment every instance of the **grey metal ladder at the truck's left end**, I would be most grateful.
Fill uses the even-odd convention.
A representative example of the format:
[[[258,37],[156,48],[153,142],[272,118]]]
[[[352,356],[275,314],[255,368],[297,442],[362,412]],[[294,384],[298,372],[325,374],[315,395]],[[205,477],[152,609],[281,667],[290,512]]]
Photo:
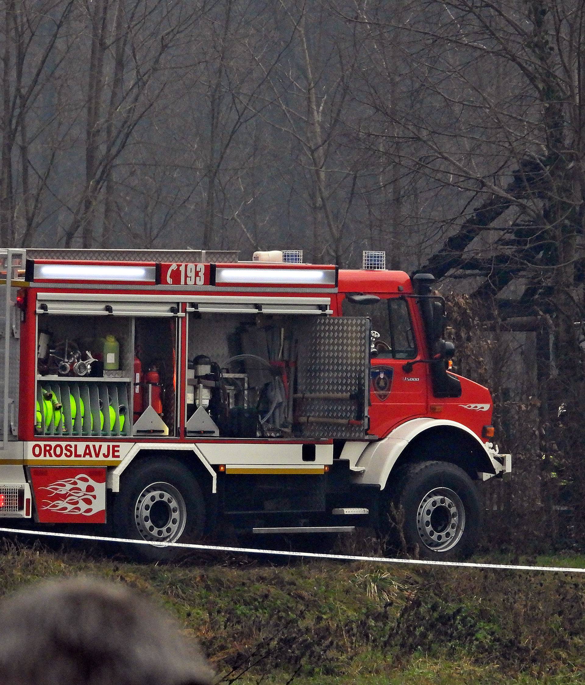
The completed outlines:
[[[0,250],[0,299],[4,321],[0,321],[0,406],[1,447],[8,449],[8,440],[18,438],[17,410],[20,382],[20,311],[16,307],[16,292],[24,286],[25,249]],[[2,325],[3,324],[3,325]]]

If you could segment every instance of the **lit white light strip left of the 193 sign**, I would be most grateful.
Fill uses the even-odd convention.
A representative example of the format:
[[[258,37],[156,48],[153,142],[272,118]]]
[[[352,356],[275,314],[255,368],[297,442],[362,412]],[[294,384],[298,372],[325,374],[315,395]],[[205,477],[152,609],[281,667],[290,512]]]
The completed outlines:
[[[154,283],[156,267],[123,264],[35,264],[35,281]]]

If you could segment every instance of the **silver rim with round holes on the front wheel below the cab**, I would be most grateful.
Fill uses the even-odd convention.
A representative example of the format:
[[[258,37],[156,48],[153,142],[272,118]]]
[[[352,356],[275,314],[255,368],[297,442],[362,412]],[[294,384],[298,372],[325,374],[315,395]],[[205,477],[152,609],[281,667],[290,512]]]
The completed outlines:
[[[435,552],[453,549],[465,527],[465,508],[459,495],[449,488],[431,490],[418,506],[416,526],[425,547]]]

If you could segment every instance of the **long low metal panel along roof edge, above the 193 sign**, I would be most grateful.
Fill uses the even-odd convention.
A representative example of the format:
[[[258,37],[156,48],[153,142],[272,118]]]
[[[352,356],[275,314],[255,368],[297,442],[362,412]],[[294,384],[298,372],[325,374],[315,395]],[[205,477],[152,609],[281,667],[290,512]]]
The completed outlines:
[[[33,247],[28,259],[94,260],[97,262],[237,262],[237,250],[106,250]]]

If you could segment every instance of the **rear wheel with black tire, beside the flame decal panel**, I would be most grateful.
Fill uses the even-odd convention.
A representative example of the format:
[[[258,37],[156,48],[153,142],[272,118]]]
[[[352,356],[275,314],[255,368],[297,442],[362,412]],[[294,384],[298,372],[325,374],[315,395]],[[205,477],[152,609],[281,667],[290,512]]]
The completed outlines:
[[[197,479],[177,460],[138,459],[122,474],[112,506],[115,537],[195,542],[203,534],[205,520],[205,500]],[[129,543],[124,551],[143,561],[170,561],[185,554],[180,547]]]

